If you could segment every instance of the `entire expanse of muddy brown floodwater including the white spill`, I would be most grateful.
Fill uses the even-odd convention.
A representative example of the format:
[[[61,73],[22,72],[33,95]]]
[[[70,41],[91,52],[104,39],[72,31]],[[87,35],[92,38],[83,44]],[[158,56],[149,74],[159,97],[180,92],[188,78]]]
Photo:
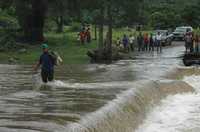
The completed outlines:
[[[169,77],[198,70],[183,53],[175,43],[111,65],[59,66],[46,86],[32,66],[1,64],[0,132],[198,132],[200,77]]]

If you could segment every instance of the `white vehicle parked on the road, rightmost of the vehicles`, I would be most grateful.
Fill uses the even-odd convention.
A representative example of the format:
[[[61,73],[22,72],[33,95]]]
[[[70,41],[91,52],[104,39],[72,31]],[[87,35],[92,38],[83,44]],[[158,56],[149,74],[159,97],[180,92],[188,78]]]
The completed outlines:
[[[190,26],[177,27],[173,32],[174,40],[184,40],[187,33],[193,32],[193,28]]]

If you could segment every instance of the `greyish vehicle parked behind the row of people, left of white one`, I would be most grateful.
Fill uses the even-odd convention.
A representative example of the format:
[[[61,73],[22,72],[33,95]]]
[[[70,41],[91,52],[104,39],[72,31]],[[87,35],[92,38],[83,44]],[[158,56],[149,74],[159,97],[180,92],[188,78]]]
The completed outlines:
[[[170,31],[168,31],[168,30],[156,30],[154,32],[154,35],[156,36],[158,34],[158,32],[162,36],[162,40],[161,40],[162,46],[169,46],[169,45],[172,44],[173,34],[170,33]]]

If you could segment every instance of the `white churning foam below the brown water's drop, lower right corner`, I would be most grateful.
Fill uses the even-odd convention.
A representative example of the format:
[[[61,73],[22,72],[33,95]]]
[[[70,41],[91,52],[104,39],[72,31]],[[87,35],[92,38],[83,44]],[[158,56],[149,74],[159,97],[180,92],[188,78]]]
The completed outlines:
[[[196,93],[171,95],[163,99],[134,132],[200,131],[200,76],[185,77],[183,80]]]

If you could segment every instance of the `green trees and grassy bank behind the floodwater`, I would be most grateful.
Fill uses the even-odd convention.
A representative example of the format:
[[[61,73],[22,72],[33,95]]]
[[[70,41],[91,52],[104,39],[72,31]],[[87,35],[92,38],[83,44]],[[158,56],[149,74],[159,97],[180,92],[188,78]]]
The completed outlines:
[[[86,53],[95,49],[106,48],[112,59],[112,46],[124,34],[181,25],[198,28],[199,7],[198,0],[1,0],[0,62],[32,64],[43,42],[57,51],[65,64],[89,63]],[[92,27],[92,42],[81,45],[77,34],[85,23]]]

